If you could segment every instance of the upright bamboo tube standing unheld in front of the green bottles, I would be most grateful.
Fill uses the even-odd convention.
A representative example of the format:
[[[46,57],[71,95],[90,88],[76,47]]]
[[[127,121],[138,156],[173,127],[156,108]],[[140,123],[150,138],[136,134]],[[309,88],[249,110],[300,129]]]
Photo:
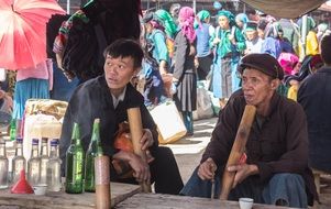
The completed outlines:
[[[110,197],[110,175],[109,175],[109,156],[101,155],[95,158],[96,174],[96,208],[109,209],[111,206]]]

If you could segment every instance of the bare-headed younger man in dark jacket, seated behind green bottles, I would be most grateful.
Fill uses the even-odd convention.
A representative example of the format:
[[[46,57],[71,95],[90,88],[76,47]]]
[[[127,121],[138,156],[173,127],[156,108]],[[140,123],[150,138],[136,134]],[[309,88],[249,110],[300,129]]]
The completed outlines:
[[[126,162],[133,169],[134,178],[126,179],[120,179],[114,170],[111,170],[111,180],[137,183],[151,178],[152,183],[155,182],[156,193],[178,194],[183,182],[175,157],[168,147],[158,146],[156,125],[144,106],[144,98],[130,84],[131,78],[141,69],[143,51],[134,41],[118,40],[106,48],[104,57],[104,75],[80,85],[69,101],[59,146],[63,173],[73,123],[79,124],[81,143],[87,150],[93,120],[99,118],[101,146],[104,154],[113,160]],[[140,156],[114,148],[114,136],[119,124],[128,121],[126,109],[134,107],[139,107],[142,114],[144,128],[142,148],[148,148],[154,157],[150,166]]]

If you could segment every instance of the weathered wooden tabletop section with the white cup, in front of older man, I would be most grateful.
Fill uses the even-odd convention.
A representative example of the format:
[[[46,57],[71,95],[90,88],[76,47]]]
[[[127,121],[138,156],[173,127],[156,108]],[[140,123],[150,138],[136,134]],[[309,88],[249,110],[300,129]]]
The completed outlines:
[[[239,209],[236,201],[223,201],[186,196],[136,194],[115,206],[115,209]],[[288,209],[269,205],[254,204],[253,209]]]

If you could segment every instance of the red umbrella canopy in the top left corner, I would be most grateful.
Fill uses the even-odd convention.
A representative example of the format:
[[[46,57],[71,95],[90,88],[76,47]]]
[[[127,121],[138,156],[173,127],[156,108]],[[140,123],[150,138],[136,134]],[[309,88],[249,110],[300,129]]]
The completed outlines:
[[[56,0],[0,1],[0,67],[20,69],[46,59],[46,22],[65,14]]]

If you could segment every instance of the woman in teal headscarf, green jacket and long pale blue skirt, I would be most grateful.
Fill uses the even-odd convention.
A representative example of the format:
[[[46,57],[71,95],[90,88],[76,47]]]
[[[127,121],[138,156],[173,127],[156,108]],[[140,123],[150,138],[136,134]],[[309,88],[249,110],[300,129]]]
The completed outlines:
[[[236,26],[234,15],[227,10],[218,13],[219,26],[210,38],[211,47],[216,48],[212,74],[212,91],[224,107],[228,98],[240,87],[236,66],[240,55],[246,48],[245,38]]]

